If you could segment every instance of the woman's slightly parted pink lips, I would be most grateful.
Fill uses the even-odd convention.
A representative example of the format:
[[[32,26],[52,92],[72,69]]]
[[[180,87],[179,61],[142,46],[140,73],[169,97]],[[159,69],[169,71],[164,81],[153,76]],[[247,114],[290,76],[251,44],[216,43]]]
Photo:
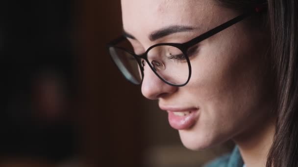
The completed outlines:
[[[188,111],[167,111],[170,125],[177,130],[189,129],[198,121],[198,109]]]

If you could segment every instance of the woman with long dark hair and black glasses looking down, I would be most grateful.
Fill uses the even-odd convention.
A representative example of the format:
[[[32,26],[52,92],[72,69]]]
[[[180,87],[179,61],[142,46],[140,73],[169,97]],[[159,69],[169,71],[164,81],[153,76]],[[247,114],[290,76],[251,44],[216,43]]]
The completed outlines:
[[[124,36],[109,51],[184,146],[235,142],[207,167],[298,167],[297,9],[295,0],[122,0]]]

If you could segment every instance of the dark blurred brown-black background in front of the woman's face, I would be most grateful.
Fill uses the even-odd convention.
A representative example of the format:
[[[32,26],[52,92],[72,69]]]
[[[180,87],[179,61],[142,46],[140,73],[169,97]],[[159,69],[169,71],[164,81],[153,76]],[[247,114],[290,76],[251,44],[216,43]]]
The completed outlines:
[[[105,43],[120,0],[0,1],[0,167],[200,167]]]

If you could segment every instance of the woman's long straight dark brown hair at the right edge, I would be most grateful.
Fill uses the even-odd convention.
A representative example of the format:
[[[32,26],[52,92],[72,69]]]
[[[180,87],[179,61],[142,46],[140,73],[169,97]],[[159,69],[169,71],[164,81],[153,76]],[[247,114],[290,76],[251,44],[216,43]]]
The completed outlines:
[[[266,167],[298,167],[298,1],[217,0],[237,10],[266,4],[277,116]]]

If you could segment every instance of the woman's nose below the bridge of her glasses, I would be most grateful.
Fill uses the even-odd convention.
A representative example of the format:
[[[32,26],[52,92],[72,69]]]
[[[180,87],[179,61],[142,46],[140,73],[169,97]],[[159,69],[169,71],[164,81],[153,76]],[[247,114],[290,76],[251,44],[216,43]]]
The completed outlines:
[[[159,79],[151,68],[146,64],[144,66],[144,79],[142,83],[142,94],[150,99],[156,100],[163,96],[173,94],[178,87],[171,86]]]

